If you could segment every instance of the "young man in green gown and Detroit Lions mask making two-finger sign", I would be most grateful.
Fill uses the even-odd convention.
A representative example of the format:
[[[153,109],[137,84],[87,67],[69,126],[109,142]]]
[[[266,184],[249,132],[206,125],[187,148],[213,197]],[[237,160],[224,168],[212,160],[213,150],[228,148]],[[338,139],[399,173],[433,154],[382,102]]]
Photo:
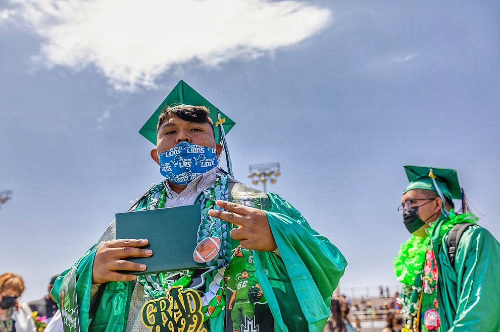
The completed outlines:
[[[146,269],[127,257],[153,253],[141,248],[147,239],[115,239],[113,222],[54,285],[66,330],[232,329],[225,296],[233,278],[234,248],[240,244],[253,249],[255,278],[274,320],[270,330],[322,330],[331,294],[347,263],[288,202],[230,175],[225,132],[233,125],[180,81],[139,131],[156,145],[151,157],[166,179],[147,190],[131,210],[201,204],[197,242],[217,243],[218,252],[204,263],[205,282],[195,282],[198,270],[138,277],[124,273]],[[217,167],[223,150],[229,174]],[[198,256],[204,259],[212,252]]]

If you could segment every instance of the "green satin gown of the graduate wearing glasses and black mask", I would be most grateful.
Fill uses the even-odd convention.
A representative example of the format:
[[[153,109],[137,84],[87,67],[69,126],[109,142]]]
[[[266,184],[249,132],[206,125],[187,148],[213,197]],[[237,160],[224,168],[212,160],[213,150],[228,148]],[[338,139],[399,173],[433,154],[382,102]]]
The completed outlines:
[[[449,264],[447,235],[439,250],[441,330],[500,331],[500,245],[486,229],[471,226],[460,238],[455,269]]]

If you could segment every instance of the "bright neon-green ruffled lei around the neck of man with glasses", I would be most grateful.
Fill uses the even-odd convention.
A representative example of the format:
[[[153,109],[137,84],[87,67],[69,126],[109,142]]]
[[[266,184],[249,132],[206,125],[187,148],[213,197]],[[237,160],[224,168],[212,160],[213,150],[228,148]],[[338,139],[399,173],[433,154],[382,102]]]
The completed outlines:
[[[439,241],[441,241],[444,234],[454,225],[463,222],[475,224],[479,220],[479,218],[470,212],[456,214],[453,209],[450,212],[451,214],[443,223],[440,223],[439,220],[432,223],[426,237],[412,235],[411,238],[403,242],[399,252],[394,257],[394,272],[396,273],[397,281],[407,286],[413,286],[415,278],[420,275],[424,268],[425,253],[427,252],[436,225],[441,224],[439,227]]]

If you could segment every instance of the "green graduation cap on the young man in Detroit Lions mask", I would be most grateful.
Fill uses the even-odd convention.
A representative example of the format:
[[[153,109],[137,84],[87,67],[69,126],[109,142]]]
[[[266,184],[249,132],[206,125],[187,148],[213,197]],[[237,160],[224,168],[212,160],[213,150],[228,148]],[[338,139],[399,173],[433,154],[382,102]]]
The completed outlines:
[[[217,107],[212,105],[207,99],[205,99],[201,94],[197,93],[193,88],[187,85],[184,81],[180,80],[179,83],[174,87],[174,89],[168,94],[167,98],[158,106],[156,111],[149,117],[149,119],[140,128],[139,134],[144,136],[149,142],[156,145],[156,126],[158,124],[158,118],[165,106],[175,106],[175,105],[192,105],[192,106],[205,106],[210,111],[210,117],[214,122],[214,132],[215,140],[220,143],[222,140],[222,133],[220,127],[216,125],[219,121],[219,113],[221,116],[222,125],[224,126],[224,132],[227,134],[229,130],[234,126],[234,121],[231,120],[226,114],[221,112]]]

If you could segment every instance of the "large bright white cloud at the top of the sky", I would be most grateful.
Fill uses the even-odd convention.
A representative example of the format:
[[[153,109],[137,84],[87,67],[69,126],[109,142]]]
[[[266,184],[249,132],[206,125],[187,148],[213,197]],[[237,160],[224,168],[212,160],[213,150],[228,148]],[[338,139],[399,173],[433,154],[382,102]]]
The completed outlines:
[[[43,37],[40,63],[95,65],[118,90],[155,87],[177,65],[217,67],[297,44],[331,21],[298,0],[10,0]]]

